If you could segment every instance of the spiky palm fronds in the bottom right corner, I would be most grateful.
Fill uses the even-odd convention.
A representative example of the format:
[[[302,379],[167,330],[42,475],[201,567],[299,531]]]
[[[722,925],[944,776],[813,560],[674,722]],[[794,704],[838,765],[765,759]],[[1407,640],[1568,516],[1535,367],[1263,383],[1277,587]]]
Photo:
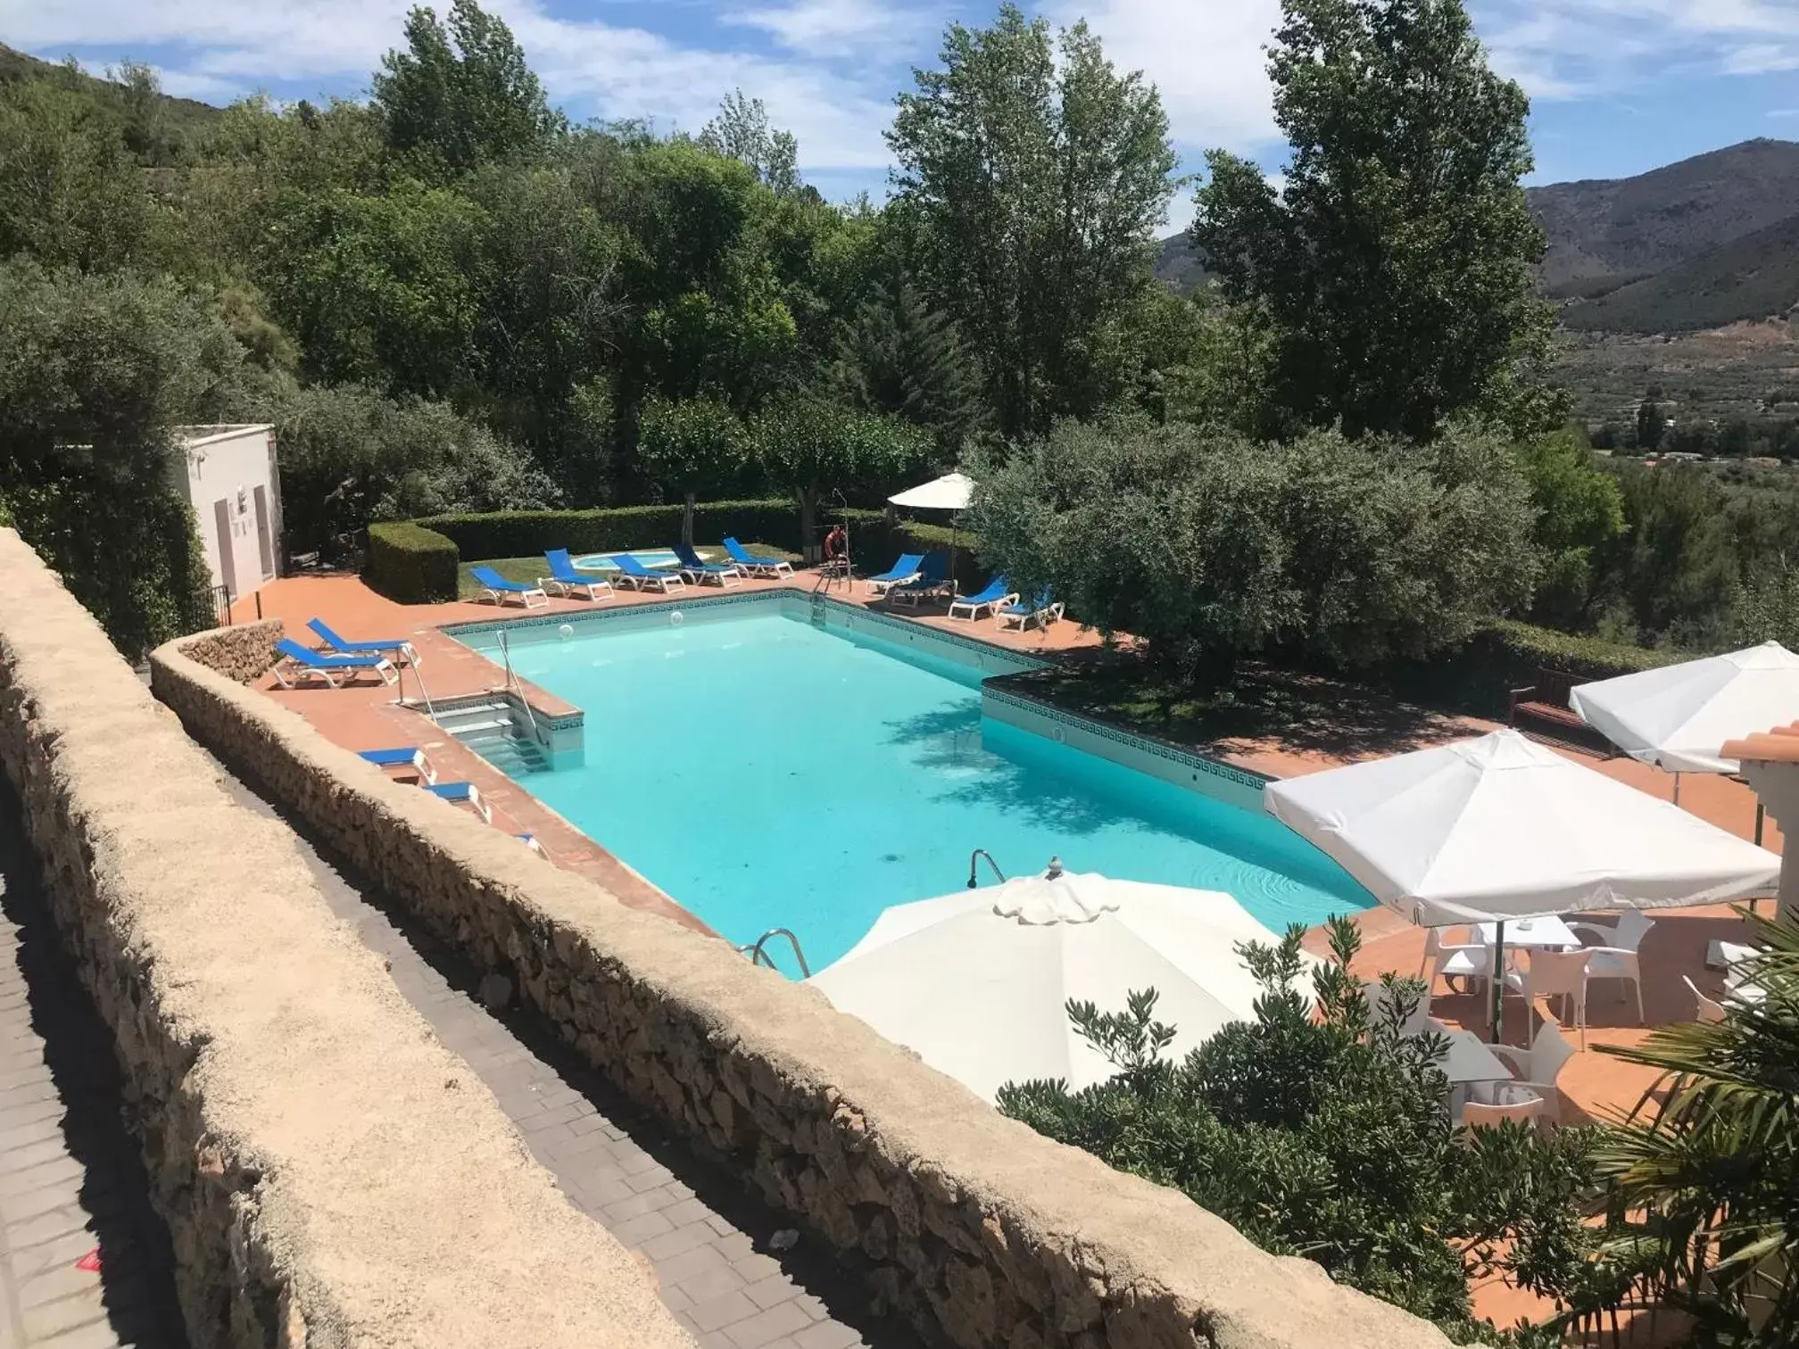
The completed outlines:
[[[1601,1047],[1662,1077],[1596,1155],[1621,1214],[1607,1246],[1650,1304],[1691,1315],[1695,1344],[1774,1349],[1799,1342],[1799,926],[1745,919],[1761,1000]]]

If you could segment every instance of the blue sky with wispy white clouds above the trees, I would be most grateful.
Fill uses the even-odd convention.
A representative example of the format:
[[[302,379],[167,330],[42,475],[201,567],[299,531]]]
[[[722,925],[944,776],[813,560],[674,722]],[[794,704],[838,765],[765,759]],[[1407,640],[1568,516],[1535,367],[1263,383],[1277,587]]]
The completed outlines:
[[[446,7],[443,4],[441,7]],[[493,0],[550,99],[577,119],[698,130],[732,88],[799,135],[831,198],[885,183],[892,95],[962,0]],[[0,41],[92,68],[148,61],[173,94],[227,103],[367,90],[407,0],[0,0]],[[1533,182],[1612,178],[1749,137],[1799,138],[1799,0],[1470,0],[1493,65],[1533,97]],[[1047,0],[1087,18],[1168,106],[1186,167],[1225,146],[1279,171],[1261,47],[1277,0]],[[1169,227],[1191,210],[1177,200]]]

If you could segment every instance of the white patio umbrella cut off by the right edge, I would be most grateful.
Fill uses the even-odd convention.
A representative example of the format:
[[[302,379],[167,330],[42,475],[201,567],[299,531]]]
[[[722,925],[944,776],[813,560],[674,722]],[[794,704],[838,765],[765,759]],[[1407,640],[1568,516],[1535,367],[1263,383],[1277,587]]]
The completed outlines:
[[[1632,759],[1673,773],[1680,800],[1680,773],[1736,772],[1736,761],[1720,754],[1725,741],[1799,719],[1799,657],[1763,642],[1578,683],[1569,703]]]

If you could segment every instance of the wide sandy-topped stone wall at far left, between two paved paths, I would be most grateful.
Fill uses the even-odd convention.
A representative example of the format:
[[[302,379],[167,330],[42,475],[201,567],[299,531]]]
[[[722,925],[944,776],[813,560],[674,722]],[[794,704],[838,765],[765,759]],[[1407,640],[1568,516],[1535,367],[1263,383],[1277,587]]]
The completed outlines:
[[[0,572],[0,770],[113,1032],[194,1349],[693,1349],[293,833],[225,793],[13,531]]]

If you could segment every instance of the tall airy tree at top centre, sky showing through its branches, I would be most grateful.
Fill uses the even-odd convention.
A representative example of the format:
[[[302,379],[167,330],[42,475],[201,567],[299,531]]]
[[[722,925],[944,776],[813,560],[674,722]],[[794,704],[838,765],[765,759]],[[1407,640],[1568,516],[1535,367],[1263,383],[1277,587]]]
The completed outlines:
[[[941,59],[916,72],[887,133],[894,209],[930,302],[980,362],[998,430],[1043,432],[1123,387],[1108,329],[1153,284],[1168,117],[1085,23],[1052,41],[1013,4],[991,29],[952,23]]]

